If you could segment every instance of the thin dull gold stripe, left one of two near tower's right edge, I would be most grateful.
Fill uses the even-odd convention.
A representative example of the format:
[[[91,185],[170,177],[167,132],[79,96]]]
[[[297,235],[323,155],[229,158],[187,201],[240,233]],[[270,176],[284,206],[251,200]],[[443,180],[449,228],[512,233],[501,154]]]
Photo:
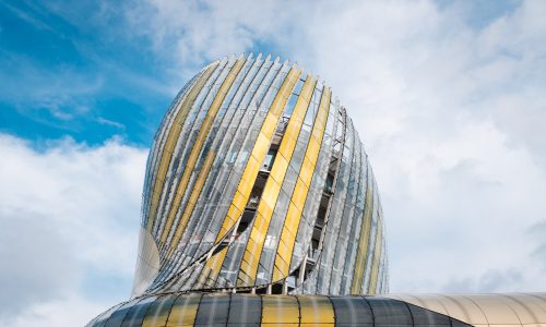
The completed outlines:
[[[368,167],[368,170],[370,168]],[[351,294],[360,294],[363,287],[364,270],[366,265],[366,259],[368,257],[368,244],[370,242],[370,229],[371,229],[371,213],[373,208],[373,190],[372,190],[372,177],[368,172],[368,181],[366,187],[366,206],[364,208],[363,225],[360,227],[360,240],[358,241],[358,251],[356,254],[355,274],[353,276],[353,283],[351,287]]]

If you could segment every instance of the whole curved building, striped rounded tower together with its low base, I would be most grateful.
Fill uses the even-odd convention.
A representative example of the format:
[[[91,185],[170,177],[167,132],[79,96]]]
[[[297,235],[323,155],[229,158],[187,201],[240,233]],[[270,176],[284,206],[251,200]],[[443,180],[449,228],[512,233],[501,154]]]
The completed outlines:
[[[490,326],[499,307],[513,313],[500,324],[546,326],[544,294],[384,295],[388,276],[377,184],[345,108],[296,64],[226,58],[163,119],[132,299],[90,326]]]

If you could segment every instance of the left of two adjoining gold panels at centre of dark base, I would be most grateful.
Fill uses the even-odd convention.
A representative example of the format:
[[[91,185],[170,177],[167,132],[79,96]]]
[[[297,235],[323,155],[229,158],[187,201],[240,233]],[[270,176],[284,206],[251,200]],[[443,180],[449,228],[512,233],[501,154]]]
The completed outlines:
[[[262,326],[265,324],[299,324],[298,301],[294,296],[262,296]],[[265,325],[266,326],[266,325]],[[288,325],[289,326],[289,325]]]

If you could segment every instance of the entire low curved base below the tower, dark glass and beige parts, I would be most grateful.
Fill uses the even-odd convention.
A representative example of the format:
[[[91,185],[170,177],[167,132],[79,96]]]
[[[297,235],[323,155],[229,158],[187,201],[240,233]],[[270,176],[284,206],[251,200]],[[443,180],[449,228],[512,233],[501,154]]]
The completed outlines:
[[[90,326],[546,326],[546,293],[389,298],[167,293],[120,303]]]

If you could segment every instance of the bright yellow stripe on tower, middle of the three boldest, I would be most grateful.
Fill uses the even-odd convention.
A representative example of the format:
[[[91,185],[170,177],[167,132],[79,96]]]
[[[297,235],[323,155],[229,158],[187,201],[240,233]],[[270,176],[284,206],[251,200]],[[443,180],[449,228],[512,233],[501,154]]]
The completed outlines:
[[[260,254],[263,250],[265,235],[268,234],[268,229],[271,223],[271,217],[288,169],[288,164],[296,148],[296,142],[301,131],[301,125],[304,124],[304,119],[309,102],[311,101],[316,83],[317,80],[312,76],[307,76],[306,83],[301,88],[301,94],[294,108],[294,112],[286,126],[283,140],[281,141],[281,146],[278,147],[275,161],[271,168],[270,177],[265,182],[265,187],[263,189],[262,197],[258,205],[254,223],[252,225],[250,238],[240,265],[240,271],[244,275],[239,275],[239,279],[242,281],[242,286],[253,284],[256,280]]]

